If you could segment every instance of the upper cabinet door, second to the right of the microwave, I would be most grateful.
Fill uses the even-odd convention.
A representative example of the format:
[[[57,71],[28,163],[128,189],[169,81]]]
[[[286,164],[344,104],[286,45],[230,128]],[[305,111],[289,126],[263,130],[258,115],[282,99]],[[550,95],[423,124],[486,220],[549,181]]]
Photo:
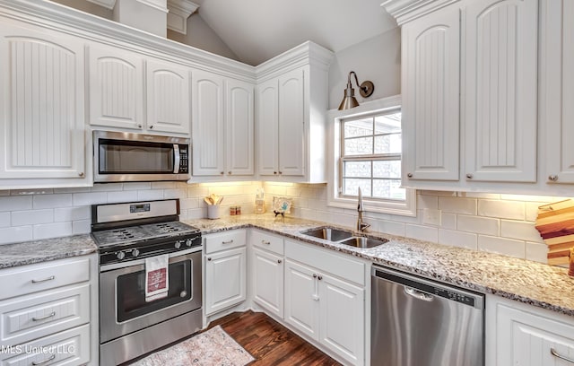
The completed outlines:
[[[226,82],[227,174],[254,173],[253,85],[229,79]]]

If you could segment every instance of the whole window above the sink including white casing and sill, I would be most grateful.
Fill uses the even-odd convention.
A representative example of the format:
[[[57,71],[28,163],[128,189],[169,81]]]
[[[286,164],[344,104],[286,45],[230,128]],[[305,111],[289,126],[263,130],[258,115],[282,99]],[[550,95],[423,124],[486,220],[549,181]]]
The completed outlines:
[[[401,96],[370,100],[348,110],[329,111],[327,205],[372,213],[416,216],[416,190],[401,187]]]

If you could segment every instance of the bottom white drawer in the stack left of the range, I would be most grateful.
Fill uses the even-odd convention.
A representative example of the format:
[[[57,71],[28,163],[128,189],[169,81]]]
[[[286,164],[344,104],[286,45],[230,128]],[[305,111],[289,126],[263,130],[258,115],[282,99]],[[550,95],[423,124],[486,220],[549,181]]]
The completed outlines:
[[[90,362],[90,325],[5,348],[0,366],[83,365]]]

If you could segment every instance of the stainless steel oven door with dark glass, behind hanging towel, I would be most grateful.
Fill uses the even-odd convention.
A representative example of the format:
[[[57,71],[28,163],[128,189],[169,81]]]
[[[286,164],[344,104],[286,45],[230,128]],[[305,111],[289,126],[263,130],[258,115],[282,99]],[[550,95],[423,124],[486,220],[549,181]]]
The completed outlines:
[[[201,248],[189,250],[170,257],[168,296],[156,301],[145,301],[144,259],[100,268],[100,344],[201,308]]]

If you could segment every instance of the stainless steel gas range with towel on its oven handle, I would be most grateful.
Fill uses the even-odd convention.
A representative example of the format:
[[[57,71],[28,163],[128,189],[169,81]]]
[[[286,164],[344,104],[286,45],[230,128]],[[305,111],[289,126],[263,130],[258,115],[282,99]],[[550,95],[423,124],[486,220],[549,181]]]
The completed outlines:
[[[100,252],[100,365],[117,365],[202,327],[201,232],[179,200],[92,205]]]

